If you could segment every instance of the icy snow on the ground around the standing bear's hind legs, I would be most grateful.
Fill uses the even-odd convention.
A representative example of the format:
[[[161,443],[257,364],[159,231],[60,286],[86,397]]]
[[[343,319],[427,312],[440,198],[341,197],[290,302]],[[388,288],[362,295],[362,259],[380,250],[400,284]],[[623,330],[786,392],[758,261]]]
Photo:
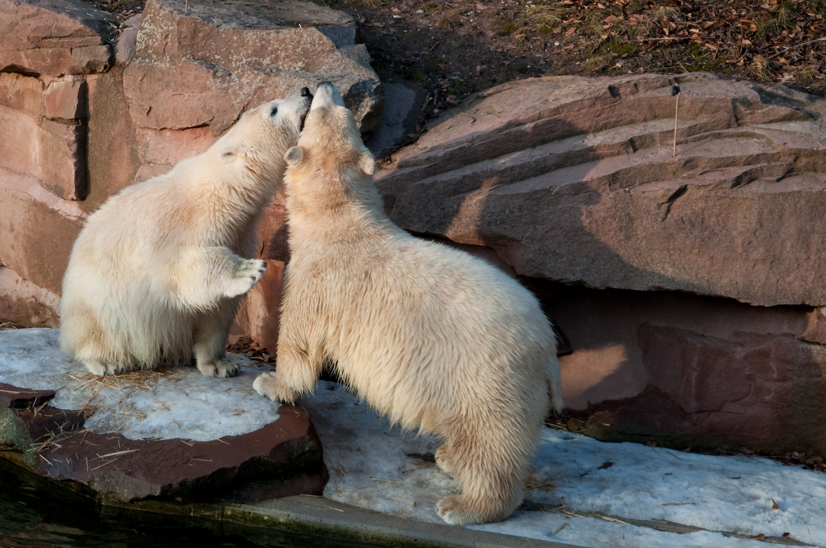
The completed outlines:
[[[324,445],[330,470],[326,497],[440,521],[434,504],[458,491],[458,482],[420,458],[432,455],[438,440],[392,428],[335,383],[321,381],[301,404]],[[595,548],[757,547],[765,544],[723,533],[782,537],[786,532],[789,540],[826,546],[822,472],[754,456],[603,443],[550,428],[543,432],[534,467],[529,480],[534,489],[526,499],[546,511],[520,510],[505,522],[472,527]],[[587,517],[591,513],[616,521]],[[658,531],[665,522],[702,531]]]

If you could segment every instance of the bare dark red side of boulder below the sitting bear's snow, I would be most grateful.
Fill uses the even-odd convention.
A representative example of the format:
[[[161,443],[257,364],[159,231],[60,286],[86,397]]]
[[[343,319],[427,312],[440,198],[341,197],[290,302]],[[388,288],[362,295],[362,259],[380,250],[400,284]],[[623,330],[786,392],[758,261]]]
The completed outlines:
[[[320,442],[298,407],[282,406],[276,423],[255,432],[210,442],[131,440],[83,428],[82,413],[38,405],[41,391],[11,385],[0,389],[24,394],[12,400],[13,407],[4,404],[10,409],[0,413],[10,413],[6,421],[30,437],[23,451],[31,450],[24,452],[31,470],[51,480],[88,485],[103,498],[208,501],[236,492],[231,498],[244,502],[321,494],[324,489]],[[19,409],[21,404],[29,405]]]

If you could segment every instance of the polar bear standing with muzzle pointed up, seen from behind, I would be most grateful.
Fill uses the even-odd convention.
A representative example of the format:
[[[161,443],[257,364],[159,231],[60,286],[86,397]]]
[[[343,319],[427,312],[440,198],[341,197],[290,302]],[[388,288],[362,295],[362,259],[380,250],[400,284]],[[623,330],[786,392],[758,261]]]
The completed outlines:
[[[504,519],[563,404],[551,324],[504,272],[393,224],[372,174],[354,116],[320,84],[287,151],[278,359],[254,388],[294,402],[331,361],[379,413],[444,440],[436,461],[463,486],[437,504],[445,522]]]

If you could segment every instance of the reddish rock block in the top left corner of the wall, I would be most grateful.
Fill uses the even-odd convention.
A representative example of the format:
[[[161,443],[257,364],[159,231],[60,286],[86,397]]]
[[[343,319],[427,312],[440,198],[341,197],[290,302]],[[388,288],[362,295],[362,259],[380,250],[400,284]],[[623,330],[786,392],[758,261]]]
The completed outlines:
[[[104,72],[112,64],[106,20],[79,0],[0,0],[0,71]]]

